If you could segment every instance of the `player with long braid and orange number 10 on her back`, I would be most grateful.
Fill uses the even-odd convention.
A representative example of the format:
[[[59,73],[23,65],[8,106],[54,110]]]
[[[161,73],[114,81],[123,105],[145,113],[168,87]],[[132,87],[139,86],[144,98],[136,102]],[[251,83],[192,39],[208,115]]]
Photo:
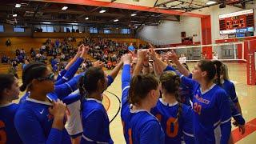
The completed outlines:
[[[139,56],[143,61],[147,60],[146,54],[139,54]],[[138,62],[138,65],[142,65],[142,61]],[[134,74],[136,72],[134,70]],[[183,136],[186,143],[194,143],[192,109],[181,103],[179,76],[169,71],[163,73],[160,75],[160,84],[162,98],[159,98],[151,114],[158,118],[165,130],[165,143],[182,143]]]

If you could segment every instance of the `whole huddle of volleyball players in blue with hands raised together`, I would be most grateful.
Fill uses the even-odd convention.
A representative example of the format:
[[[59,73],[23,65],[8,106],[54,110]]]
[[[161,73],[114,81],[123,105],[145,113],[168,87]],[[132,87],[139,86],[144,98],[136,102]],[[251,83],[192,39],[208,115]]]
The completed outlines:
[[[137,58],[124,54],[108,75],[98,61],[76,74],[88,50],[79,46],[56,79],[50,67],[40,62],[22,70],[20,87],[14,75],[0,74],[1,144],[114,143],[102,93],[121,69],[126,143],[233,143],[232,117],[245,133],[224,63],[201,60],[190,73],[174,50],[166,53],[164,61],[150,45],[139,50]],[[18,104],[13,103],[19,91],[25,94]]]

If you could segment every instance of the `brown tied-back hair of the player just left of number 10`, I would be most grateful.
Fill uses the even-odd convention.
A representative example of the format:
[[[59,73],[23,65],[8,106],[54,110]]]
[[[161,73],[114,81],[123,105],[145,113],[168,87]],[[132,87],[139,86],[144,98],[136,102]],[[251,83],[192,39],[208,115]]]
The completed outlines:
[[[140,105],[150,90],[158,89],[158,79],[152,74],[135,75],[130,81],[128,101],[133,105]]]

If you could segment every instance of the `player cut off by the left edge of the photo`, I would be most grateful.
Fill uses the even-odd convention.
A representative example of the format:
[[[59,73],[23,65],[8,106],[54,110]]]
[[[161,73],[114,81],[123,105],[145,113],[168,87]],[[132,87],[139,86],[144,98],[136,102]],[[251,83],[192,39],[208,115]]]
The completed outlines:
[[[0,143],[22,143],[14,127],[18,104],[12,101],[18,99],[18,94],[18,79],[12,74],[0,74]]]

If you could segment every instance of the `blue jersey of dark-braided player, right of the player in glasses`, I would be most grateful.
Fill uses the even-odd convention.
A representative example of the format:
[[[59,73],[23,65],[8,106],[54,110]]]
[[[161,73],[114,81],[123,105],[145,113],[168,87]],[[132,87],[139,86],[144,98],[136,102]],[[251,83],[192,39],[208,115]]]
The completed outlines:
[[[86,98],[82,105],[81,143],[114,143],[110,137],[110,121],[102,102]]]

